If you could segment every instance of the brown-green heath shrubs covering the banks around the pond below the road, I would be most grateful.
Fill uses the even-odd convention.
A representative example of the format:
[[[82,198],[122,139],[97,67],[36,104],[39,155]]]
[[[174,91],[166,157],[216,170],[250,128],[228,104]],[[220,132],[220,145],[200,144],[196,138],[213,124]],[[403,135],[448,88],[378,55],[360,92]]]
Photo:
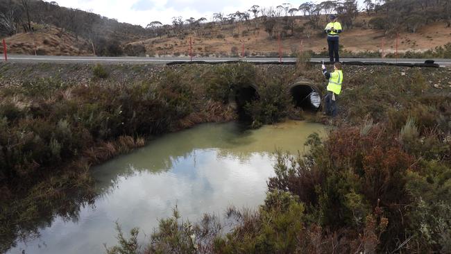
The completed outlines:
[[[77,217],[80,205],[92,203],[93,164],[162,133],[236,119],[232,104],[244,88],[255,90],[241,108],[254,126],[301,111],[280,87],[303,78],[325,90],[321,72],[304,61],[21,71],[12,65],[0,67],[1,251],[37,234],[55,214]],[[53,75],[40,78],[36,70]],[[230,208],[226,225],[208,214],[198,223],[184,221],[175,210],[142,246],[135,240],[139,230],[129,239],[118,226],[119,244],[108,252],[450,251],[449,70],[344,71],[339,117],[303,114],[330,124],[330,135],[312,135],[303,157],[276,155],[259,209]]]

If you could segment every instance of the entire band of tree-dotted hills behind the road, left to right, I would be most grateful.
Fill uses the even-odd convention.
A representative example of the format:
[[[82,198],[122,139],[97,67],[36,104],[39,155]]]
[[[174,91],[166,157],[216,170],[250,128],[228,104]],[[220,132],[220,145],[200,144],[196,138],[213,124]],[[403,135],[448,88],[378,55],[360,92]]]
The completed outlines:
[[[173,24],[151,22],[147,28],[119,23],[91,12],[64,8],[40,0],[0,0],[0,37],[6,37],[11,53],[65,56],[284,56],[312,51],[322,56],[327,43],[323,13],[337,12],[343,24],[344,56],[381,56],[398,50],[407,56],[450,57],[436,49],[451,42],[448,1],[394,0],[366,6],[358,12],[356,1],[304,3],[277,11],[257,8],[230,15],[215,13],[214,20],[173,19]],[[379,1],[381,2],[381,1]],[[253,6],[254,7],[254,6]],[[28,15],[25,10],[32,10]],[[252,12],[254,12],[252,14]],[[303,15],[295,15],[303,12]],[[9,13],[9,14],[8,14]],[[290,13],[290,15],[288,15]],[[259,14],[259,15],[258,15]],[[253,16],[253,18],[251,18]],[[29,22],[28,22],[29,20]],[[9,23],[8,23],[9,22]],[[5,26],[9,24],[9,26]],[[450,44],[451,45],[451,44]],[[2,52],[3,49],[0,49]],[[421,55],[421,53],[427,52]]]

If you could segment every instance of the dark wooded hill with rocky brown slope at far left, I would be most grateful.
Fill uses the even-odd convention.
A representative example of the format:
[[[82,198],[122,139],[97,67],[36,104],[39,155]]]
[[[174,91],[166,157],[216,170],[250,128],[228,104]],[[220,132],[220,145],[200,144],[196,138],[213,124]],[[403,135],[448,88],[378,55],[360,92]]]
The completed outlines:
[[[142,26],[42,0],[0,0],[0,38],[12,53],[121,56],[121,45],[148,37]],[[51,42],[50,44],[48,42]],[[3,52],[3,49],[1,49]]]

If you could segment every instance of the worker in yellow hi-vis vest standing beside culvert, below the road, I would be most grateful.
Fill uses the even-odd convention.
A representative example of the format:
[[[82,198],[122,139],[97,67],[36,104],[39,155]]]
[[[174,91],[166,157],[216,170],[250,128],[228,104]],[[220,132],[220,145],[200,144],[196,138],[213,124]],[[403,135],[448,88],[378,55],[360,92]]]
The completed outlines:
[[[327,94],[324,98],[325,114],[335,117],[338,114],[337,99],[343,84],[343,70],[339,62],[334,63],[334,72],[332,73],[327,72],[324,64],[321,67],[323,68],[323,75],[329,80]]]

